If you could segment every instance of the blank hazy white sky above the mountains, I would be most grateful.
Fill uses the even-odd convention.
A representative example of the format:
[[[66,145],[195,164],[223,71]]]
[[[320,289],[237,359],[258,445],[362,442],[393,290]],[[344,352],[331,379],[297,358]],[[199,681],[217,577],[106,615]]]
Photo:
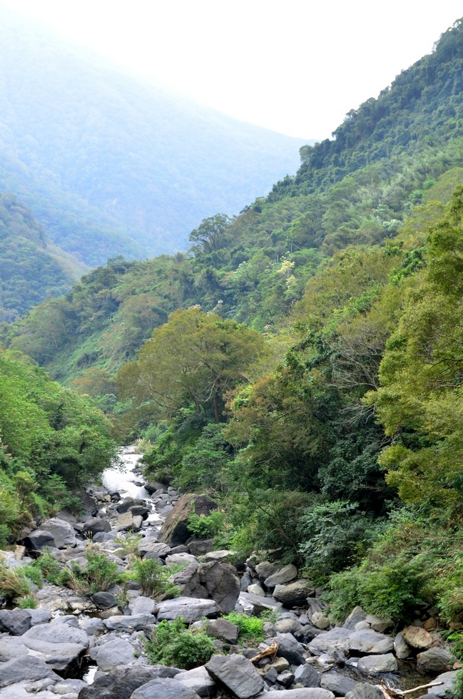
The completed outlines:
[[[462,0],[0,0],[138,76],[301,138],[327,138],[424,53]]]

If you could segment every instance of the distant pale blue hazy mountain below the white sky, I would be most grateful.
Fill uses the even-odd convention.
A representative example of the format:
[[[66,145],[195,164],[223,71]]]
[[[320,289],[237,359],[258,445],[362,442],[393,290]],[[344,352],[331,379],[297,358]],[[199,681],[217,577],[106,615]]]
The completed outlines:
[[[0,188],[87,265],[184,249],[299,164],[303,141],[118,73],[0,14]]]

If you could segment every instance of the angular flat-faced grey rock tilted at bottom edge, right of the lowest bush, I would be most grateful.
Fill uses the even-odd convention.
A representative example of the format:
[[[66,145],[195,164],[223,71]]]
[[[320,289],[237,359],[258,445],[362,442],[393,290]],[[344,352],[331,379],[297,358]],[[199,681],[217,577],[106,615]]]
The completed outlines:
[[[253,663],[243,655],[213,655],[205,665],[210,677],[238,699],[249,699],[264,688]]]

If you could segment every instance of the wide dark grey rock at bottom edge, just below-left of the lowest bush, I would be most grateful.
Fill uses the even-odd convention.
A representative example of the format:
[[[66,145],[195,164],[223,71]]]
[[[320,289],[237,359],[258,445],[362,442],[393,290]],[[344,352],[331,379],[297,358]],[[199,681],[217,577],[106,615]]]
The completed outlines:
[[[115,668],[110,675],[98,673],[93,685],[81,689],[78,699],[130,699],[133,692],[142,685],[156,678],[173,678],[180,671],[164,665]]]

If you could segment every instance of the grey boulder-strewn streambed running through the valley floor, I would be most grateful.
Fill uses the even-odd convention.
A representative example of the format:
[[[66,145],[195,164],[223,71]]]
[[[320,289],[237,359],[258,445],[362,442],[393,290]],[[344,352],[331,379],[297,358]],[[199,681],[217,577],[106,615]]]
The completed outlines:
[[[136,457],[129,449],[124,454],[134,466]],[[132,471],[132,484],[146,495],[138,499],[124,497],[122,489],[89,488],[81,521],[61,513],[39,524],[26,532],[24,546],[2,552],[4,562],[16,568],[48,546],[62,565],[74,560],[84,566],[91,537],[92,546],[123,570],[126,554],[114,539],[139,531],[141,556],[166,566],[187,563],[172,576],[181,596],[156,601],[143,597],[137,583],[129,583],[128,602],[121,608],[117,586],[84,597],[46,584],[36,593],[38,608],[1,608],[0,699],[248,699],[262,693],[273,699],[277,691],[289,692],[288,699],[385,699],[380,681],[387,678],[397,687],[414,663],[422,673],[422,681],[414,684],[429,683],[436,675],[443,682],[427,690],[427,699],[452,693],[457,665],[429,612],[396,636],[386,633],[390,621],[361,608],[343,626],[332,627],[322,591],[298,577],[295,566],[253,559],[241,561],[237,569],[227,562],[230,551],[213,551],[211,540],[190,538],[186,521],[192,506],[197,514],[208,514],[213,501],[179,497],[160,484],[146,484],[144,490],[142,481]],[[238,645],[238,627],[220,618],[233,609],[258,615],[264,609],[275,611],[277,621],[264,624],[265,643],[258,648]],[[159,621],[178,616],[205,626],[215,638],[217,655],[189,671],[149,665],[141,636]],[[269,646],[276,652],[265,655]],[[264,657],[251,662],[259,653]],[[76,678],[83,658],[98,668],[92,683]]]

